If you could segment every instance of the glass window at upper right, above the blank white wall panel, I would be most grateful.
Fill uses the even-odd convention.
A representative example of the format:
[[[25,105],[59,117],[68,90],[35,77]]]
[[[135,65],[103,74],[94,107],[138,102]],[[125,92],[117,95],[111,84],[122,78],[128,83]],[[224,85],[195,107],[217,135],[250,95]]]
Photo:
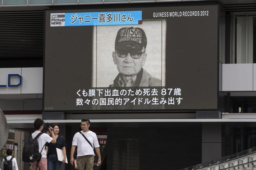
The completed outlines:
[[[230,33],[231,63],[256,63],[256,14],[232,14]]]

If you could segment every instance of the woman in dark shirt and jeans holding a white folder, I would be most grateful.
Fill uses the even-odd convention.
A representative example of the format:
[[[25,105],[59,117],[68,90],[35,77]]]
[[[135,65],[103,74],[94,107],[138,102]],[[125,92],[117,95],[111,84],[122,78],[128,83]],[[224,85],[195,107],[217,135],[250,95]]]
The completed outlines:
[[[66,162],[66,142],[63,136],[59,136],[59,124],[54,123],[51,125],[53,128],[53,133],[56,137],[56,143],[46,143],[46,154],[47,154],[47,170],[60,170],[62,162]],[[58,161],[56,148],[62,150],[64,158],[61,161]]]

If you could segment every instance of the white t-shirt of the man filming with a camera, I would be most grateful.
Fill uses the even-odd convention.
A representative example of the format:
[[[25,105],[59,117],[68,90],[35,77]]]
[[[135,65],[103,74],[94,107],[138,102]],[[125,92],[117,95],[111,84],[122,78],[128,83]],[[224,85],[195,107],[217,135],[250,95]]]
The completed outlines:
[[[34,139],[37,136],[38,133],[40,133],[40,131],[35,131],[34,133],[32,133],[32,138]],[[53,140],[53,138],[50,137],[49,135],[47,135],[46,133],[41,134],[37,138],[39,152],[41,152],[45,143],[46,142],[50,143],[51,140]],[[42,158],[47,158],[45,148],[43,148],[41,154],[42,154]]]

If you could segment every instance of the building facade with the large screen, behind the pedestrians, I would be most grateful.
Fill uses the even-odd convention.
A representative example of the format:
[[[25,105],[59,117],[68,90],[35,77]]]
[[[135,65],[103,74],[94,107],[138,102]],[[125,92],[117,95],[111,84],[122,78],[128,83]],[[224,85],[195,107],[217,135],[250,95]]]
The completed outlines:
[[[178,170],[256,146],[254,1],[1,0],[0,20],[1,158],[11,146],[20,169],[38,117],[60,124],[67,158],[90,119],[95,169]]]

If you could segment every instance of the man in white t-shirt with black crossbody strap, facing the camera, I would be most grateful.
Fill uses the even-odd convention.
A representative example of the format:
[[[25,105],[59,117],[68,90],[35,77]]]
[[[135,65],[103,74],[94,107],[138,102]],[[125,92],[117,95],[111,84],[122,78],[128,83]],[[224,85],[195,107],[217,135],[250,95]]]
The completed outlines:
[[[71,154],[70,154],[70,163],[73,165],[74,162],[74,152],[75,147],[77,146],[77,169],[84,170],[93,170],[93,163],[94,163],[94,151],[93,148],[95,147],[95,151],[98,155],[98,162],[97,165],[101,164],[101,153],[99,150],[99,142],[97,136],[94,132],[89,130],[90,127],[90,120],[89,119],[82,119],[81,120],[81,129],[82,131],[77,132],[73,137],[72,147],[71,147]],[[88,143],[87,140],[90,142]]]

